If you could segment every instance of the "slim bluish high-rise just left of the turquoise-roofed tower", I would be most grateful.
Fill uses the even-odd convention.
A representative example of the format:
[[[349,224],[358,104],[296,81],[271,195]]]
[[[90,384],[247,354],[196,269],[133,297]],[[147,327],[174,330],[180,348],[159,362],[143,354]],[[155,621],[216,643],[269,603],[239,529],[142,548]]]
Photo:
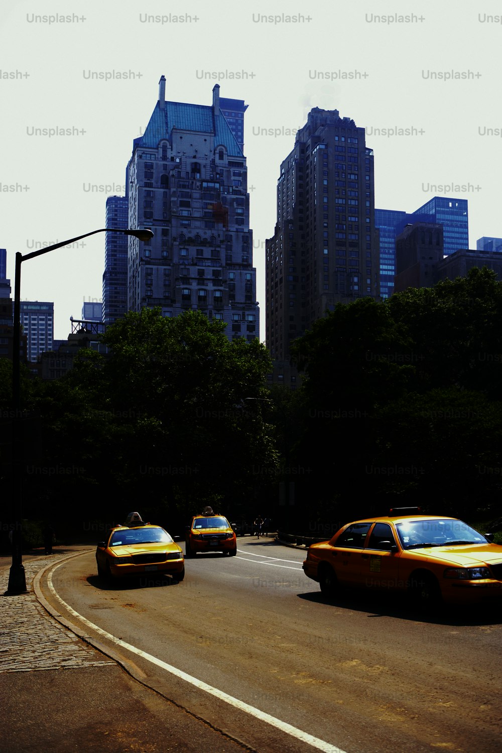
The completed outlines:
[[[127,196],[109,196],[106,200],[105,227],[127,227]],[[105,233],[105,271],[103,273],[102,321],[111,325],[127,311],[127,236]],[[85,319],[85,317],[84,317]]]

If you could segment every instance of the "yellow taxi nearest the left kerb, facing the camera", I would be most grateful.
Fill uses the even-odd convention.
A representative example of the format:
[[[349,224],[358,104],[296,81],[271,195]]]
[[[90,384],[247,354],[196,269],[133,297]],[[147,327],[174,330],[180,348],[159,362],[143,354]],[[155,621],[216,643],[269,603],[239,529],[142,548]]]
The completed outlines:
[[[96,548],[100,578],[125,578],[145,573],[168,574],[176,581],[184,578],[181,547],[160,526],[144,523],[141,516],[129,513],[126,523],[108,531]]]

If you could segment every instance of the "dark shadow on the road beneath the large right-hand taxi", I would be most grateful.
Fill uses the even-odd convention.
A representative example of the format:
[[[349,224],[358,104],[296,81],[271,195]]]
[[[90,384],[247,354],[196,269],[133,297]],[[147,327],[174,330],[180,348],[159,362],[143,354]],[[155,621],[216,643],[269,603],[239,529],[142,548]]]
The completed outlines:
[[[325,604],[340,609],[366,613],[367,617],[394,617],[398,620],[424,622],[432,625],[446,625],[454,627],[498,625],[502,623],[502,609],[499,605],[440,605],[427,611],[412,605],[406,596],[396,596],[388,593],[367,593],[356,591],[342,591],[336,596],[324,596],[321,591],[298,593],[299,599],[316,604]]]

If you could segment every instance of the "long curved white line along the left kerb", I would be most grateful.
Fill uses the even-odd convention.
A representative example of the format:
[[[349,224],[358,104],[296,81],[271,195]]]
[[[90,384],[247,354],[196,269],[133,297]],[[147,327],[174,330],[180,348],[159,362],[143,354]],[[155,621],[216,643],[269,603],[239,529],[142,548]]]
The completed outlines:
[[[230,706],[234,706],[236,709],[239,709],[240,711],[244,711],[247,714],[251,714],[251,716],[254,716],[257,719],[260,719],[260,721],[265,721],[266,724],[270,724],[272,727],[275,727],[276,729],[281,730],[281,732],[291,735],[292,737],[295,737],[296,739],[301,740],[302,742],[306,742],[306,744],[311,745],[312,748],[317,748],[320,751],[324,751],[324,753],[345,753],[345,751],[342,751],[341,748],[337,748],[336,745],[331,745],[330,742],[326,742],[325,740],[321,740],[318,737],[309,735],[309,733],[303,732],[303,730],[298,730],[297,727],[293,727],[292,724],[288,724],[285,721],[281,721],[281,719],[275,718],[275,716],[266,714],[265,712],[260,711],[260,709],[255,709],[254,706],[249,706],[248,703],[244,703],[244,701],[241,701],[238,698],[229,696],[227,693],[224,693],[223,691],[219,691],[217,687],[212,687],[212,685],[208,685],[206,682],[203,682],[202,680],[198,680],[196,677],[192,677],[192,675],[187,675],[187,673],[182,672],[181,669],[177,669],[175,666],[172,666],[171,664],[167,664],[166,662],[160,659],[157,659],[157,657],[154,657],[151,654],[147,654],[145,651],[141,651],[140,648],[136,648],[135,646],[132,646],[130,643],[126,643],[125,641],[122,641],[120,638],[116,638],[115,636],[112,636],[111,633],[107,633],[105,630],[102,630],[102,628],[98,627],[94,623],[87,620],[85,617],[82,616],[82,614],[79,614],[78,611],[75,611],[75,609],[71,608],[69,604],[63,601],[61,596],[59,596],[59,594],[56,593],[56,589],[53,587],[52,573],[56,572],[56,570],[62,564],[64,563],[59,562],[59,565],[56,565],[53,571],[49,572],[47,575],[47,584],[49,586],[50,592],[53,594],[54,598],[57,599],[57,601],[60,604],[62,604],[65,607],[65,609],[68,610],[70,614],[73,614],[74,617],[77,617],[78,620],[81,620],[81,622],[83,622],[85,625],[90,627],[100,636],[104,636],[106,639],[108,639],[109,641],[111,641],[117,646],[126,648],[127,651],[132,651],[133,654],[136,654],[137,656],[140,656],[143,659],[146,659],[152,664],[156,664],[157,666],[160,667],[160,669],[165,669],[166,672],[170,672],[172,675],[175,675],[181,680],[184,680],[185,682],[189,682],[191,685],[198,687],[199,690],[205,691],[211,696],[214,696],[222,701],[225,701],[225,703],[228,703]]]

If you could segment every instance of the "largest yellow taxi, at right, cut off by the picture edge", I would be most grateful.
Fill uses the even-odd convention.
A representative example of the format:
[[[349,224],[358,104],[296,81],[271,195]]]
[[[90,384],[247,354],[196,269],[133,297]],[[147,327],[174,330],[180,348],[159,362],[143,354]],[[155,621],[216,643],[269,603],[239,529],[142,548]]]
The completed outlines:
[[[500,599],[502,546],[457,518],[417,510],[348,523],[330,541],[311,544],[303,572],[327,595],[338,587],[379,588],[421,606]]]

